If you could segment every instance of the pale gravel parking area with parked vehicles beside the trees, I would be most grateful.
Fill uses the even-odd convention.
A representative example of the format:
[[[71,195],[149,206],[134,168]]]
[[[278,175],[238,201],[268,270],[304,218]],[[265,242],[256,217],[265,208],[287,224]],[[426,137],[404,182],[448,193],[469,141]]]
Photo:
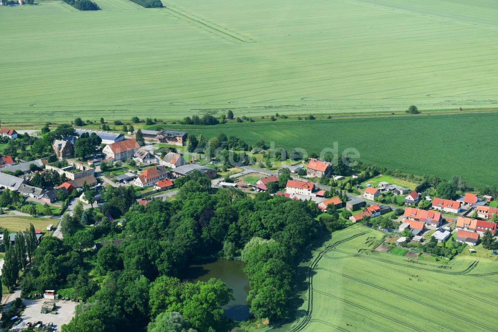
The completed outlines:
[[[55,302],[55,310],[57,311],[57,315],[52,314],[42,314],[41,305],[45,301],[53,301]],[[43,322],[43,325],[46,325],[52,322],[55,328],[55,331],[61,331],[61,327],[64,324],[69,323],[74,316],[74,308],[78,303],[71,301],[63,301],[63,300],[48,300],[48,299],[37,299],[37,300],[23,300],[22,301],[26,305],[26,309],[24,309],[24,313],[22,314],[22,322],[15,326],[12,331],[18,331],[26,327],[26,323],[28,322]]]

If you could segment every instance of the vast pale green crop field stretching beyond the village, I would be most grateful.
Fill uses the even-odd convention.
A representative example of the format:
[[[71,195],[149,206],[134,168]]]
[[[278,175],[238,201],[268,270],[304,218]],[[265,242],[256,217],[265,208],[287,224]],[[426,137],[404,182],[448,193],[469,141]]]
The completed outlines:
[[[0,120],[497,103],[493,0],[96,2],[0,8]]]

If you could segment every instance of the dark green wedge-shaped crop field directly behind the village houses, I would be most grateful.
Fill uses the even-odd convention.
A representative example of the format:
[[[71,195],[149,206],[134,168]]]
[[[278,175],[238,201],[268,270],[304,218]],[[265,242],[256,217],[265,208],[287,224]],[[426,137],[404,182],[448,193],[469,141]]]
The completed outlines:
[[[237,116],[237,114],[236,114]],[[467,184],[498,185],[498,114],[430,115],[330,120],[277,120],[216,126],[168,126],[205,138],[224,133],[249,144],[264,140],[290,151],[317,154],[333,148],[355,148],[360,161],[450,179],[461,175]],[[152,127],[153,128],[153,127]]]

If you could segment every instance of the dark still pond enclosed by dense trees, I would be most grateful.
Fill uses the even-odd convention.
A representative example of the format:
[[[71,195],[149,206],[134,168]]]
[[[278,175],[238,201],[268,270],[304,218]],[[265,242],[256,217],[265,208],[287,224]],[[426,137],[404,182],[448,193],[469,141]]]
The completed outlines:
[[[245,263],[218,259],[211,263],[191,265],[182,273],[182,278],[193,282],[208,281],[217,278],[234,290],[235,300],[223,307],[225,315],[236,321],[245,321],[249,317],[249,305],[246,299],[249,294],[249,280],[244,273]]]

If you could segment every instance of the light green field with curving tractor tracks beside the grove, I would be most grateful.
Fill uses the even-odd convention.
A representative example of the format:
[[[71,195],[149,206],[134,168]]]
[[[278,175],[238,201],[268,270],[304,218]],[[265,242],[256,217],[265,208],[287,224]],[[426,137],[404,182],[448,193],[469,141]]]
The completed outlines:
[[[361,226],[333,233],[310,263],[313,287],[298,311],[307,314],[280,330],[496,331],[496,261],[442,266],[372,252],[381,237]]]

